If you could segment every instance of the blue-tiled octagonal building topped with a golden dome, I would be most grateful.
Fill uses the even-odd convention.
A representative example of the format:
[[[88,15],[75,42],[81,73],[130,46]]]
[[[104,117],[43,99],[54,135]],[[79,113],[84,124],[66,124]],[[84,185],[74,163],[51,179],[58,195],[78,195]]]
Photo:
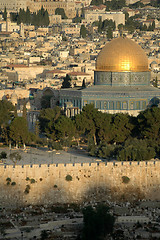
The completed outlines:
[[[112,40],[101,50],[96,60],[93,86],[59,91],[60,106],[68,109],[69,116],[90,103],[102,112],[137,116],[148,106],[158,104],[159,99],[160,90],[150,85],[144,50],[126,37]]]

